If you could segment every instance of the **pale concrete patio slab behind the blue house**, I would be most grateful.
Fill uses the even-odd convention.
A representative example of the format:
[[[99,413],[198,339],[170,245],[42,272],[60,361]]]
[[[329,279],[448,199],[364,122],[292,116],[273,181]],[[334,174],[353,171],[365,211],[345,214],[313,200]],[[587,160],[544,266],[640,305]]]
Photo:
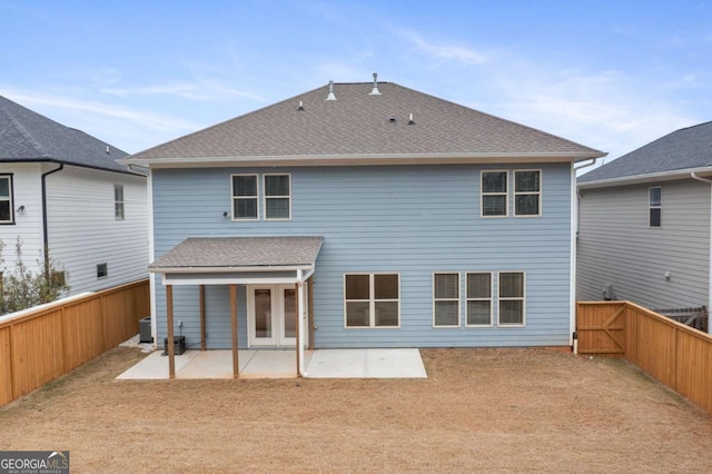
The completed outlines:
[[[239,350],[240,378],[296,377],[295,350]],[[310,378],[427,378],[418,349],[317,349],[305,353]],[[168,357],[156,350],[117,377],[167,379]],[[176,378],[233,378],[231,350],[186,350]]]

